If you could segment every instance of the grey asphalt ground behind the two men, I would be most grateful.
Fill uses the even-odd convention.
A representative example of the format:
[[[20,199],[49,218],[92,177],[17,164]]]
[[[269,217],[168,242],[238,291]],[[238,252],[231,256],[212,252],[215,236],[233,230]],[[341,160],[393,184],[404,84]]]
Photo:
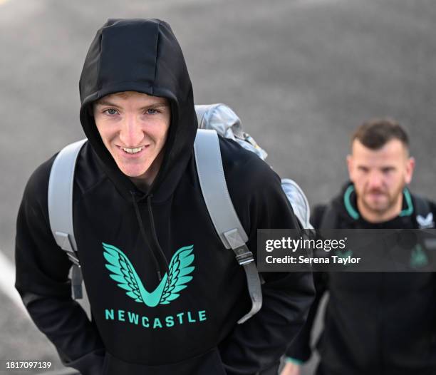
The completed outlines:
[[[351,131],[382,116],[410,131],[412,189],[436,199],[432,0],[1,0],[0,250],[10,260],[26,180],[83,138],[78,78],[90,41],[106,19],[123,17],[169,21],[196,103],[232,106],[312,205],[346,180]],[[0,359],[60,369],[53,345],[1,292],[0,304]]]

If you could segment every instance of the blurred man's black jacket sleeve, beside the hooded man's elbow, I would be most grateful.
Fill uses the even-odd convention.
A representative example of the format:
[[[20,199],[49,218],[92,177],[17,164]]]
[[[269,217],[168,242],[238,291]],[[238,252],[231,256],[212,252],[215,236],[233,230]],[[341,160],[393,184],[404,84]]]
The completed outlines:
[[[315,229],[318,229],[319,225],[321,224],[325,208],[326,206],[318,205],[313,210],[311,224]],[[311,357],[311,332],[316,318],[316,313],[318,312],[319,304],[323,294],[327,290],[328,274],[326,272],[313,272],[313,283],[315,284],[316,297],[313,300],[311,309],[309,310],[307,320],[299,334],[297,334],[296,337],[290,342],[285,353],[286,357],[291,361],[294,361],[294,363],[301,364],[308,361],[308,359]]]

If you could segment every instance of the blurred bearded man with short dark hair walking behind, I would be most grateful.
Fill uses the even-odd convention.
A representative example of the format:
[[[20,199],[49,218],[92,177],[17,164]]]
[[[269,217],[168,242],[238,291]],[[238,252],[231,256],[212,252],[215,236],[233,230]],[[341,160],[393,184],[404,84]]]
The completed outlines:
[[[356,130],[347,183],[315,207],[316,229],[435,227],[434,202],[410,194],[415,160],[405,130],[373,120]],[[436,374],[436,279],[431,272],[315,273],[316,300],[286,351],[281,375],[298,375],[311,356],[310,335],[324,292],[330,296],[318,341],[319,375]]]

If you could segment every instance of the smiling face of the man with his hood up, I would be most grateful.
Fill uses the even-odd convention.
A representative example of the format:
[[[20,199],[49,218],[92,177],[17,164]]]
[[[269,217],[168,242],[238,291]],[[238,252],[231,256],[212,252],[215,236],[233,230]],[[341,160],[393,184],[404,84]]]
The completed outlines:
[[[170,128],[167,99],[134,91],[110,94],[95,102],[93,114],[118,168],[137,185],[151,185]]]

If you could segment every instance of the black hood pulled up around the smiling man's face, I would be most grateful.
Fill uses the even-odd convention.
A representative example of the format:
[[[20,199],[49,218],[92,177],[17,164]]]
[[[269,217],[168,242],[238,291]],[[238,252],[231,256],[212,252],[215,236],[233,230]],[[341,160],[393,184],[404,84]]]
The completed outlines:
[[[127,200],[133,191],[144,192],[119,170],[105,148],[93,118],[93,102],[122,91],[170,101],[171,123],[162,165],[146,192],[152,193],[155,201],[170,197],[192,156],[197,131],[190,76],[170,25],[158,19],[109,19],[90,45],[79,88],[85,135],[105,173]]]

